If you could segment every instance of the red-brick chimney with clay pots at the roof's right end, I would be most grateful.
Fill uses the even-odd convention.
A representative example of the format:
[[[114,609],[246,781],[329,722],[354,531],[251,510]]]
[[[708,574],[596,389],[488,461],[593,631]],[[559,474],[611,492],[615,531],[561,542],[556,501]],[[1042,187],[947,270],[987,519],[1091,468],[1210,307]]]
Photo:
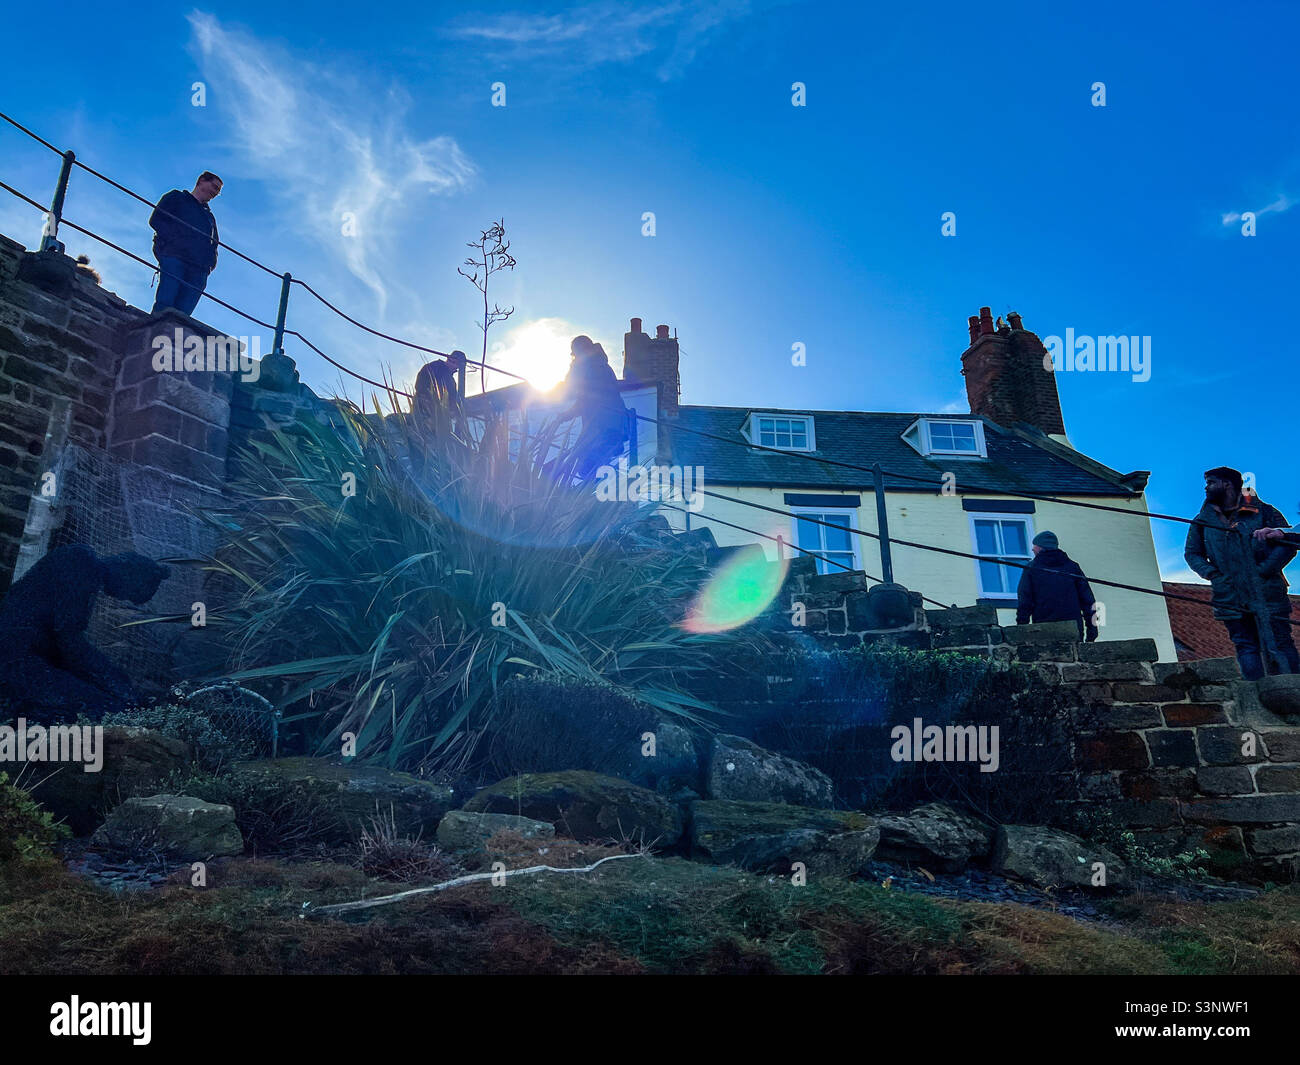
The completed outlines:
[[[962,373],[971,414],[998,425],[1023,421],[1044,433],[1063,436],[1056,375],[1052,363],[1045,362],[1046,348],[1039,335],[1024,328],[1015,311],[1008,313],[1001,329],[994,329],[989,307],[980,307],[979,315],[971,315],[966,322],[970,347],[962,352]]]

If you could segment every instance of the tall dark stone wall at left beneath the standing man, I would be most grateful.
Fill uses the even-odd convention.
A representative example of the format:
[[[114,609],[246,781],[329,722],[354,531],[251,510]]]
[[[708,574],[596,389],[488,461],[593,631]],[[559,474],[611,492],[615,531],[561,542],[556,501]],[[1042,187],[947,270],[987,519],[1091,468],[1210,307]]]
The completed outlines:
[[[213,546],[200,511],[224,499],[238,446],[332,410],[282,355],[247,381],[160,372],[160,337],[178,350],[233,339],[176,311],[147,315],[68,256],[0,237],[0,594],[61,542],[200,558]],[[182,620],[124,628],[131,612],[101,597],[92,638],[133,674],[165,680],[199,650],[187,619],[211,594],[198,566],[176,564],[148,610]]]

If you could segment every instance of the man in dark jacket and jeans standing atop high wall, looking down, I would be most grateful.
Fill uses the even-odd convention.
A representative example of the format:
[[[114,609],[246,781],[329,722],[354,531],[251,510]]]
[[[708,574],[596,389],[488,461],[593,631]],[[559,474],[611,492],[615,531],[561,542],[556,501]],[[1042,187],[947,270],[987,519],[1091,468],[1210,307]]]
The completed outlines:
[[[159,260],[159,291],[153,313],[176,307],[192,315],[217,265],[217,220],[208,202],[221,191],[221,178],[211,170],[199,174],[192,191],[173,189],[150,216],[153,257]]]

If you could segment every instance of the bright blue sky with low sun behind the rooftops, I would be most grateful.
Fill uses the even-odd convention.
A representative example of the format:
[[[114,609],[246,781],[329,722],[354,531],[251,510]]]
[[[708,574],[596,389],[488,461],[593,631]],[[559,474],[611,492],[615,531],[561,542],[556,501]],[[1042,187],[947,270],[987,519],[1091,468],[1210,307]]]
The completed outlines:
[[[677,330],[688,403],[963,411],[980,306],[1044,337],[1149,335],[1149,381],[1058,376],[1075,446],[1153,471],[1154,510],[1195,512],[1201,471],[1227,463],[1295,520],[1300,9],[872,7],[69,3],[51,38],[29,5],[6,14],[26,46],[0,108],[147,196],[216,170],[229,243],[434,347],[477,350],[456,265],[504,217],[519,267],[493,298],[516,311],[495,358],[538,377],[562,372],[563,337],[615,355],[638,316]],[[56,173],[0,129],[4,181],[44,200]],[[147,212],[86,174],[66,216],[148,256]],[[0,198],[0,231],[39,230]],[[65,235],[151,304],[143,267]],[[274,317],[277,282],[229,254],[209,291]],[[300,291],[290,324],[370,376],[419,365]],[[1157,523],[1167,576],[1182,534]]]

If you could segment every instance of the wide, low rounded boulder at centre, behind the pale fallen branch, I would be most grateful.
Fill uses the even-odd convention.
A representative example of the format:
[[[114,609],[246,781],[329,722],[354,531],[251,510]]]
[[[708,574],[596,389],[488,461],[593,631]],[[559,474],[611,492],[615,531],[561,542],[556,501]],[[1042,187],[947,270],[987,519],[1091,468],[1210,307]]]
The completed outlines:
[[[478,792],[464,809],[546,821],[577,840],[630,839],[671,847],[681,839],[681,814],[667,798],[586,770],[508,776]]]

